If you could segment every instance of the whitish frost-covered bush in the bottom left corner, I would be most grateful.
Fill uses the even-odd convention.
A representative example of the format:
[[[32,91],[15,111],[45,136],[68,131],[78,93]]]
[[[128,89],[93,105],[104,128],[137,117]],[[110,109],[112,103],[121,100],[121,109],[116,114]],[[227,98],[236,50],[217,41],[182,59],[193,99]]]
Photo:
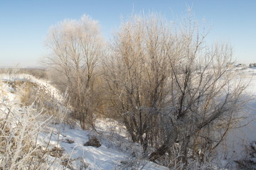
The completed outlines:
[[[43,169],[43,154],[36,142],[48,120],[38,123],[41,113],[35,112],[33,105],[16,108],[1,103],[0,169]]]

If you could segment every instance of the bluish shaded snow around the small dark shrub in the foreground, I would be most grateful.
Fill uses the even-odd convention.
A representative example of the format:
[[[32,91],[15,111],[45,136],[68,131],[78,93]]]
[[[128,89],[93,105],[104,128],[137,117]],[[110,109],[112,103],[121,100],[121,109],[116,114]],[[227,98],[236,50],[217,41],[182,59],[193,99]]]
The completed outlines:
[[[102,127],[102,124],[98,124]],[[99,128],[100,129],[100,128]],[[99,130],[99,132],[102,132]],[[84,144],[89,140],[92,135],[97,135],[97,138],[101,140],[102,146],[100,147],[85,147]],[[114,145],[108,145],[113,142],[113,139],[105,138],[103,136],[87,130],[81,130],[78,127],[70,128],[69,125],[60,123],[59,125],[50,125],[46,132],[41,132],[39,136],[39,143],[45,145],[50,140],[49,147],[59,147],[65,149],[65,155],[70,160],[70,164],[74,169],[78,169],[80,166],[80,160],[84,160],[90,169],[117,169],[124,166],[121,162],[129,162],[132,157],[127,154],[129,150]],[[73,143],[68,143],[68,140],[73,140]],[[117,140],[117,139],[114,139]],[[120,138],[119,138],[120,140]],[[131,142],[122,141],[132,147]],[[129,149],[129,148],[127,148]],[[53,169],[62,169],[60,165],[61,160],[58,160],[59,164],[55,164]],[[141,160],[139,166],[144,166],[143,169],[166,169],[163,166],[159,166],[152,162]]]

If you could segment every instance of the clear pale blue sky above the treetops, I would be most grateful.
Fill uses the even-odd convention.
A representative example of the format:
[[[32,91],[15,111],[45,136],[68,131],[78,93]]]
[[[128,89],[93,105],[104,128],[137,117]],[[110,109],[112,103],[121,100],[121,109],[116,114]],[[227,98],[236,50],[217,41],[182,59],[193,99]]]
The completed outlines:
[[[100,22],[105,38],[119,27],[121,16],[132,11],[157,11],[169,20],[186,13],[193,6],[198,20],[212,26],[210,42],[230,42],[237,62],[256,62],[256,1],[236,0],[1,0],[0,67],[20,64],[40,66],[46,52],[44,40],[50,26],[65,18],[79,19],[87,14]]]

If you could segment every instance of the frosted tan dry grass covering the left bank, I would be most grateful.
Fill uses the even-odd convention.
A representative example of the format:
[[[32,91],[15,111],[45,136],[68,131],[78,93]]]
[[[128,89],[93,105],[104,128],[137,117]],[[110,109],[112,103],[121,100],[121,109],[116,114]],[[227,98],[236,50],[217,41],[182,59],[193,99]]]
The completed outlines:
[[[3,84],[3,83],[2,83]],[[19,94],[21,105],[0,103],[0,169],[46,169],[48,155],[62,157],[63,149],[42,149],[37,137],[50,120],[65,120],[68,108],[31,81],[6,81]],[[6,91],[1,89],[2,97]]]

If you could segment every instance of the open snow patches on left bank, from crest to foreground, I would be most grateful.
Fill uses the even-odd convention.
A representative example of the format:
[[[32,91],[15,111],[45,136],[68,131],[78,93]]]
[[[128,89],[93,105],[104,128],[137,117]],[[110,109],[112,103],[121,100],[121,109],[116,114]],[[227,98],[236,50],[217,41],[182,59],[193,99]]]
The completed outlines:
[[[6,81],[24,79],[32,81],[39,86],[44,86],[58,100],[61,95],[58,90],[50,86],[46,81],[38,80],[28,74],[1,74],[0,75],[1,107],[8,102],[13,112],[23,109],[17,91]],[[38,124],[43,124],[43,119]],[[166,169],[164,166],[148,162],[144,159],[136,159],[134,152],[142,150],[139,145],[127,140],[127,132],[124,127],[113,120],[97,120],[95,131],[82,130],[77,125],[67,125],[51,118],[37,137],[37,145],[40,145],[47,162],[46,169]],[[100,147],[84,146],[90,137],[95,136],[100,140]]]

